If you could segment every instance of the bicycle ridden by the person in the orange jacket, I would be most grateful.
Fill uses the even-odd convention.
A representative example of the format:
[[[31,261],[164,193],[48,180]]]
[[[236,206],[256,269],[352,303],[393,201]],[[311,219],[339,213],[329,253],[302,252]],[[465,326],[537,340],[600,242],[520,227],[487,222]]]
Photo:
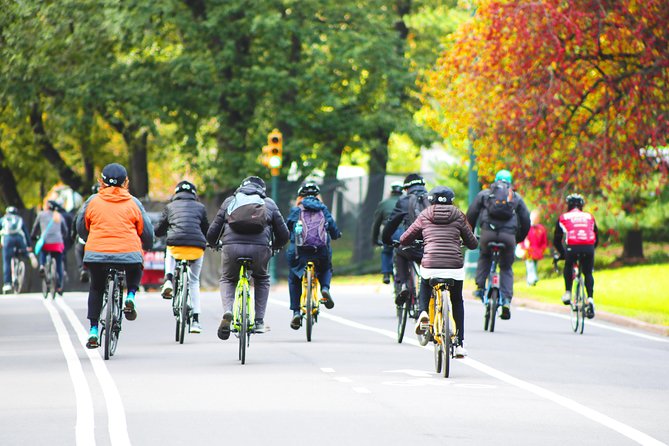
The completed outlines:
[[[105,292],[102,295],[102,309],[99,318],[100,339],[104,346],[104,358],[107,360],[116,353],[118,338],[121,334],[125,285],[125,271],[110,267]]]

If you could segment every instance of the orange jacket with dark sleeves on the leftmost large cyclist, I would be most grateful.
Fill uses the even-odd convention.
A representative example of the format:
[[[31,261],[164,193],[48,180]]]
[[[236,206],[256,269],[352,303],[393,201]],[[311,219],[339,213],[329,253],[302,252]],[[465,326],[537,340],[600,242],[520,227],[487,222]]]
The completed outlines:
[[[140,201],[123,187],[103,187],[82,206],[77,233],[86,263],[143,263],[153,246],[153,225]]]

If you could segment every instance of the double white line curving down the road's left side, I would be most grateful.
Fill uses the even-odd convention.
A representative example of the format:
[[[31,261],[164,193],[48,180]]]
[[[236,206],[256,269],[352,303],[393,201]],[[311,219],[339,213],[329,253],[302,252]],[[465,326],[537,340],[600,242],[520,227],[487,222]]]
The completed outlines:
[[[58,341],[60,342],[61,349],[65,355],[67,368],[70,372],[70,379],[72,380],[72,386],[74,387],[77,401],[77,423],[75,428],[76,444],[78,446],[95,445],[95,411],[93,407],[93,398],[81,361],[79,360],[74,344],[70,339],[65,323],[58,310],[54,307],[52,301],[50,299],[42,298],[40,298],[40,300],[43,301],[44,306],[49,312],[49,316],[51,316],[53,325],[56,328]],[[118,392],[114,379],[109,373],[109,370],[107,370],[107,366],[104,364],[100,354],[96,350],[89,350],[86,348],[85,339],[88,333],[79,319],[77,319],[74,311],[72,311],[63,299],[56,299],[55,302],[67,317],[79,344],[88,355],[95,376],[102,388],[102,393],[107,405],[107,427],[111,444],[114,446],[130,445],[125,409],[123,408],[123,401],[121,400],[121,395]]]

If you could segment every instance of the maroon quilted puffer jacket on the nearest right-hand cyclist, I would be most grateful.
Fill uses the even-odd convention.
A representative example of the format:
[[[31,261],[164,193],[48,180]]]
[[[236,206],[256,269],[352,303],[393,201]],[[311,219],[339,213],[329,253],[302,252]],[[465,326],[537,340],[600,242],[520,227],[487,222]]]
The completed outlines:
[[[450,204],[432,205],[423,210],[400,237],[402,245],[410,245],[423,238],[425,268],[459,269],[464,266],[461,241],[469,249],[476,249],[478,241],[467,223],[465,214]]]

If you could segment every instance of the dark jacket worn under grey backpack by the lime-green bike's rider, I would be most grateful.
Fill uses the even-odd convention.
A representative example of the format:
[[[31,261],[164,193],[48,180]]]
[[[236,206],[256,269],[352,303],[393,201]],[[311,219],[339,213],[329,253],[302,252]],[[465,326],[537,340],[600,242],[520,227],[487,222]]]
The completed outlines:
[[[207,231],[207,242],[211,246],[216,246],[220,235],[221,244],[223,245],[241,244],[270,246],[271,244],[274,249],[279,249],[288,243],[289,234],[286,222],[274,200],[267,197],[262,187],[251,183],[237,188],[235,193],[237,192],[246,195],[256,194],[265,200],[267,226],[260,234],[239,234],[233,231],[227,222],[228,205],[235,198],[233,194],[226,198],[218,209],[216,217],[214,217],[214,221],[211,223],[211,226],[209,226],[209,230]]]

